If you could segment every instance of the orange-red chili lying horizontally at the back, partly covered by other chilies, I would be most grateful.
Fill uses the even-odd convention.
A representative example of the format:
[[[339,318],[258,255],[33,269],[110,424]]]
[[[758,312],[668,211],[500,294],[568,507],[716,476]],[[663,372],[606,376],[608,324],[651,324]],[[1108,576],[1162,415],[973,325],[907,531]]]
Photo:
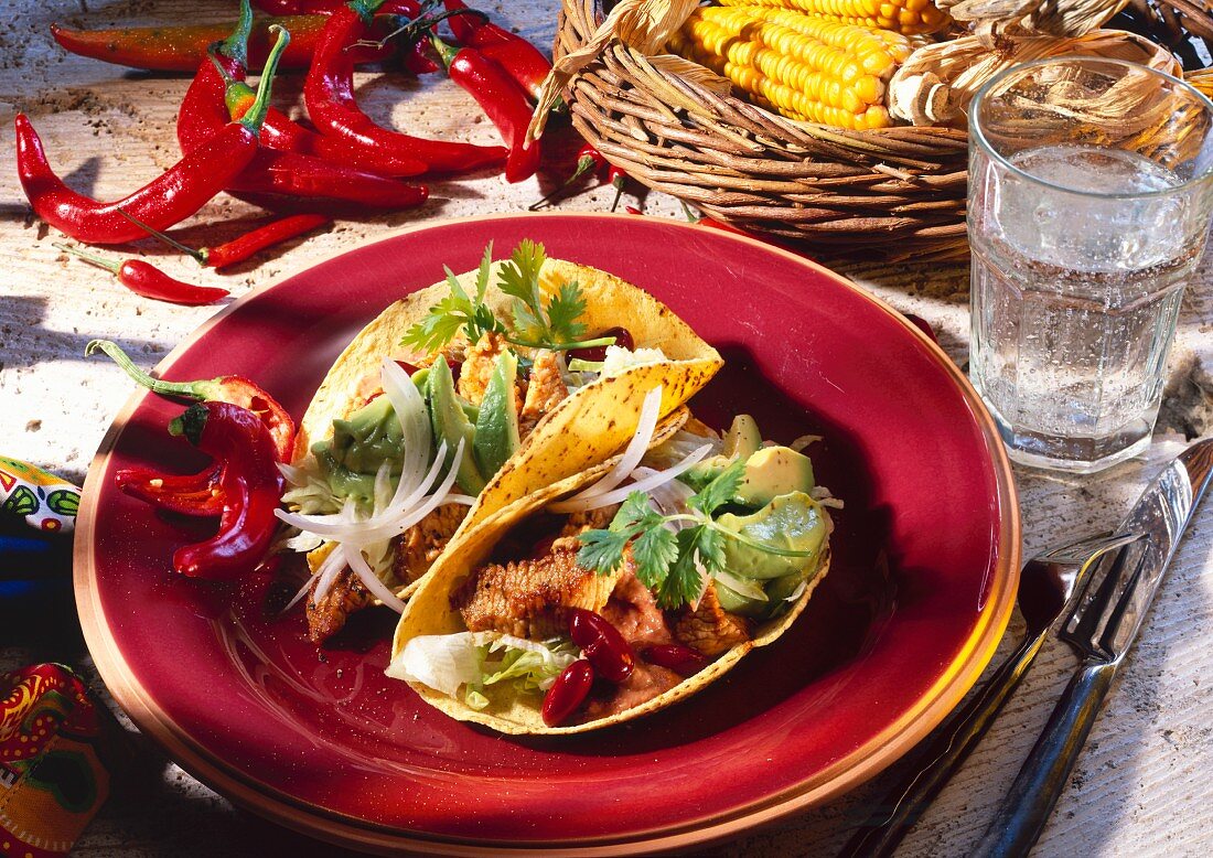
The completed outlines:
[[[273,39],[269,28],[281,27],[291,34],[291,44],[283,51],[281,68],[307,68],[312,64],[315,42],[328,17],[296,15],[280,18],[258,18],[249,44],[249,68],[258,70],[269,56]],[[376,33],[386,33],[389,21],[376,19]],[[51,35],[66,51],[101,59],[102,62],[153,72],[193,72],[206,59],[207,49],[224,39],[235,24],[189,24],[186,27],[123,27],[109,30],[75,30],[63,24],[51,24]],[[378,63],[392,55],[392,49],[363,47],[353,50],[353,62]]]

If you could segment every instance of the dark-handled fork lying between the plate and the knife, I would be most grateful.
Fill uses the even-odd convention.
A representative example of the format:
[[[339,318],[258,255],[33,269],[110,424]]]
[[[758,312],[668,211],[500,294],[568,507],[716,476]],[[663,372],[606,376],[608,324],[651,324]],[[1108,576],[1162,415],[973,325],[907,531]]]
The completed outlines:
[[[1087,572],[1105,553],[1132,542],[1135,534],[1090,536],[1024,564],[1016,601],[1027,626],[1024,640],[981,691],[938,729],[919,755],[923,763],[881,801],[839,858],[889,856],[930,801],[989,731],[1003,704],[1031,667],[1053,623],[1061,615]]]

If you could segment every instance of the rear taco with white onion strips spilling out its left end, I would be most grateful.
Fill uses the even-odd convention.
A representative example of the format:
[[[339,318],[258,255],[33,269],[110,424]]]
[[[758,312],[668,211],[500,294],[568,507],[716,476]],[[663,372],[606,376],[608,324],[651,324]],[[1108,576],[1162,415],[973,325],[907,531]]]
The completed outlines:
[[[456,533],[581,473],[721,367],[643,290],[523,242],[414,292],[354,337],[300,424],[279,517],[307,552],[309,636],[408,596]]]

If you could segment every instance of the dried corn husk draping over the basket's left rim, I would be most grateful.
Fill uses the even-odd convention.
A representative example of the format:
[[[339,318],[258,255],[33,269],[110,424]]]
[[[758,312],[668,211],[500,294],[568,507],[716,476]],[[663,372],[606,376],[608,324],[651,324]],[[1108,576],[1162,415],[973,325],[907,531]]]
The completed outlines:
[[[560,57],[543,80],[539,104],[526,129],[526,141],[543,133],[552,106],[573,75],[597,59],[611,39],[619,39],[644,56],[657,53],[696,6],[699,0],[620,0],[590,41]]]

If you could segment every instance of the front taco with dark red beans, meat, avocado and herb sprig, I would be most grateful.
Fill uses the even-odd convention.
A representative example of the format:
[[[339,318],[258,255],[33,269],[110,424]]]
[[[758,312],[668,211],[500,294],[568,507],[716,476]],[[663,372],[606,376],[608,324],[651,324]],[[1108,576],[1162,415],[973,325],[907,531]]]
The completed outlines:
[[[799,444],[763,443],[746,415],[644,453],[651,420],[622,455],[460,534],[387,675],[460,721],[575,733],[664,709],[779,638],[828,570],[838,501]]]

